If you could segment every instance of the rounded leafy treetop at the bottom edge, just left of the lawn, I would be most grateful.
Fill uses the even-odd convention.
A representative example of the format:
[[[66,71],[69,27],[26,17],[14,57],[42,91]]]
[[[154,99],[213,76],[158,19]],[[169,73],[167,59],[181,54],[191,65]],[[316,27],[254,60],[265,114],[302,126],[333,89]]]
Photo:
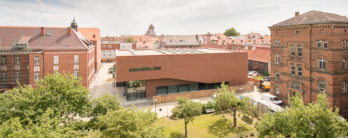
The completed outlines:
[[[150,109],[122,108],[98,118],[100,130],[91,134],[105,138],[166,138],[164,127],[153,125],[156,121],[157,114]]]

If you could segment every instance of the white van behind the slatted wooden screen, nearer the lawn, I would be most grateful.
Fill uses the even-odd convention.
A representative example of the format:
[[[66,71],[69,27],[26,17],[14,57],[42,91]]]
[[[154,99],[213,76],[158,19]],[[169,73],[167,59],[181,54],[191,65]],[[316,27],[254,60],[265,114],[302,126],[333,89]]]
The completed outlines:
[[[274,114],[275,112],[284,111],[282,107],[279,105],[273,104],[271,102],[268,102],[266,100],[260,100],[257,103],[257,114],[258,117],[261,117],[261,114],[263,113],[271,113]]]

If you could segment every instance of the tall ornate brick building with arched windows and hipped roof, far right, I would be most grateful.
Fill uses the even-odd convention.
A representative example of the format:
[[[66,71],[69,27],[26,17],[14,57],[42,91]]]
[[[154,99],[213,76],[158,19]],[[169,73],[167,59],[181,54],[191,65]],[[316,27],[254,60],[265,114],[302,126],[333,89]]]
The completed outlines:
[[[348,116],[348,18],[309,11],[271,27],[271,94],[285,104],[299,93],[308,104],[325,92]]]

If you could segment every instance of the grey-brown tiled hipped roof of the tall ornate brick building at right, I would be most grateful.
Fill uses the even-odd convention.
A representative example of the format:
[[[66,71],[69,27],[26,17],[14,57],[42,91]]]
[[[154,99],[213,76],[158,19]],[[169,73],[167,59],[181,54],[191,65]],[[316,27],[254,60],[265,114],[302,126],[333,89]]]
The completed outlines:
[[[314,24],[320,22],[348,22],[348,18],[334,13],[312,10],[272,26]]]

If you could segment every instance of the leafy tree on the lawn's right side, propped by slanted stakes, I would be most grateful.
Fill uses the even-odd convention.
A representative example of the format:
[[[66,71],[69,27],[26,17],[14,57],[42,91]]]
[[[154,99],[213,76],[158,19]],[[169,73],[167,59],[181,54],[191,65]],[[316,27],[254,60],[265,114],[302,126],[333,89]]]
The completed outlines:
[[[245,99],[237,98],[235,94],[235,90],[230,89],[225,82],[222,82],[220,88],[217,89],[218,93],[216,94],[216,98],[214,99],[215,103],[215,111],[230,111],[233,112],[233,123],[234,126],[237,126],[237,118],[236,112],[239,111],[247,111],[247,101]],[[245,112],[247,113],[247,112]]]

